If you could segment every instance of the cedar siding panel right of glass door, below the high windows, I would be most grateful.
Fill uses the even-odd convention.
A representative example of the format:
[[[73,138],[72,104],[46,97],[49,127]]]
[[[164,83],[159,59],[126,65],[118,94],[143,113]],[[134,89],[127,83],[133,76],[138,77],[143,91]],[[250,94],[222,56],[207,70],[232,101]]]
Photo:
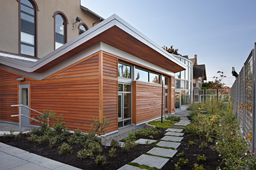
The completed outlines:
[[[162,86],[159,84],[150,84],[137,82],[137,122],[145,122],[161,116],[161,104],[163,104],[163,114],[165,113],[165,96],[162,103]],[[134,99],[134,98],[133,98]],[[134,114],[133,114],[134,115]]]

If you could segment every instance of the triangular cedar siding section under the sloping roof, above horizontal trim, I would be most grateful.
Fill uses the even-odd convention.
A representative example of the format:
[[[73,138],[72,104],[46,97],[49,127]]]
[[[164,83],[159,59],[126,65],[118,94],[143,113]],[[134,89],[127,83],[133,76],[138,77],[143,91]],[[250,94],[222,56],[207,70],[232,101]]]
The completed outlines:
[[[51,77],[53,78],[72,78],[72,77],[81,77],[87,75],[99,75],[99,54],[93,54],[85,58],[85,61],[74,64],[68,69],[63,69],[57,74]]]

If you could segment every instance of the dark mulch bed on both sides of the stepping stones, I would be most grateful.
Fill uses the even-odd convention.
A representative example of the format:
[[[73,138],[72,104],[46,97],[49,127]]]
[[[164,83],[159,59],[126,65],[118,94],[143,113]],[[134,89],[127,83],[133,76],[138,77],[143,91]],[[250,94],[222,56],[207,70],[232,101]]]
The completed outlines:
[[[165,132],[165,129],[160,129],[162,133],[159,133],[158,135],[153,135],[155,140],[161,139]],[[20,148],[23,150],[27,150],[28,152],[38,154],[40,156],[44,156],[46,158],[51,158],[53,160],[57,160],[61,163],[66,163],[68,165],[72,165],[74,167],[78,167],[81,169],[119,169],[120,167],[126,165],[127,163],[130,163],[135,158],[141,156],[141,154],[146,153],[147,151],[152,149],[152,146],[145,146],[145,145],[138,145],[132,148],[130,152],[123,153],[121,150],[122,148],[117,148],[116,150],[116,157],[109,157],[109,150],[111,150],[111,147],[105,147],[102,146],[102,152],[101,155],[105,155],[108,161],[107,165],[99,166],[96,165],[94,159],[80,159],[77,157],[77,152],[79,150],[83,149],[83,146],[80,145],[71,145],[73,153],[72,154],[66,154],[66,155],[59,155],[59,150],[57,149],[58,146],[61,145],[61,143],[68,141],[64,139],[63,141],[56,143],[55,146],[51,149],[47,144],[40,145],[39,143],[33,143],[31,141],[28,141],[26,138],[29,137],[29,135],[24,135],[22,139],[4,139],[3,137],[0,137],[0,141],[2,143],[6,143],[10,146],[14,146],[16,148]],[[151,139],[149,136],[143,136],[143,135],[137,135],[136,139]],[[195,141],[194,146],[188,146],[188,141]],[[184,139],[182,139],[182,144],[177,148],[179,154],[180,152],[184,152],[184,156],[173,156],[173,159],[170,159],[167,164],[162,167],[162,169],[174,169],[174,164],[177,164],[177,161],[179,158],[188,159],[188,164],[186,166],[181,167],[181,169],[192,169],[194,167],[194,164],[197,163],[198,165],[203,165],[205,169],[216,169],[216,167],[221,165],[221,158],[218,156],[218,152],[216,150],[212,149],[212,146],[214,146],[214,143],[208,143],[208,148],[199,148],[201,144],[201,140],[199,136],[197,135],[190,135],[188,133],[184,134]],[[188,149],[185,149],[188,148]],[[207,157],[207,161],[199,162],[197,160],[198,154],[205,154]],[[96,158],[98,154],[94,154],[94,158]]]

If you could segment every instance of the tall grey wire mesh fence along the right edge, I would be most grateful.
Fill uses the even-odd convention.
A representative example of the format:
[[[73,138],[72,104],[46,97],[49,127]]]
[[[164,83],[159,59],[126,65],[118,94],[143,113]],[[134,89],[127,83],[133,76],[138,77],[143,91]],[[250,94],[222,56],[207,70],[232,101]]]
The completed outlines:
[[[251,152],[256,153],[256,135],[255,135],[255,48],[251,50],[247,60],[244,63],[236,81],[231,87],[233,98],[233,112],[236,112],[240,122],[240,129],[244,139],[251,146]]]

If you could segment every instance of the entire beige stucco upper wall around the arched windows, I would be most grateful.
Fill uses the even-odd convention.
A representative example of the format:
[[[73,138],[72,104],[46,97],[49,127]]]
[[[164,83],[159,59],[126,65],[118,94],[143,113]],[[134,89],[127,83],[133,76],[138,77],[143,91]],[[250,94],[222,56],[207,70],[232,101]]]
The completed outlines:
[[[38,58],[54,50],[54,18],[56,11],[63,12],[68,18],[68,36],[70,41],[79,35],[76,23],[73,29],[73,23],[76,16],[83,20],[89,29],[92,24],[98,20],[95,16],[87,14],[81,10],[80,0],[35,0],[38,4]],[[18,1],[1,0],[0,5],[0,50],[18,54]]]

